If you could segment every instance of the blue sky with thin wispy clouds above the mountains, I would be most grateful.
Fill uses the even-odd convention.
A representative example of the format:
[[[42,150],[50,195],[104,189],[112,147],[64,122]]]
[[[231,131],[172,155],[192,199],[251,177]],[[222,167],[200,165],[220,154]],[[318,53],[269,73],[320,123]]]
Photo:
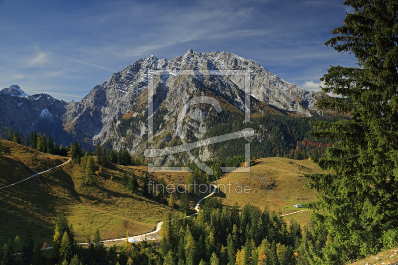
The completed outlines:
[[[133,61],[225,51],[319,90],[329,65],[355,66],[323,42],[343,0],[0,0],[0,88],[79,101]]]

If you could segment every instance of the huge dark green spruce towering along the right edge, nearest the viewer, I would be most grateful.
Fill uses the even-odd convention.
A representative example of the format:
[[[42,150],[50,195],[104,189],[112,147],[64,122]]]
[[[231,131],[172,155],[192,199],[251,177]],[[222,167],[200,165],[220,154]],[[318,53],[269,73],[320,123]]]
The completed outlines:
[[[326,156],[314,159],[330,174],[305,175],[318,201],[307,207],[319,225],[339,239],[339,251],[377,253],[389,238],[398,239],[398,2],[347,0],[354,13],[332,31],[337,52],[353,53],[358,67],[331,67],[320,80],[319,108],[349,113],[352,119],[314,122],[314,137],[338,140]],[[333,209],[333,211],[329,211]],[[347,251],[350,251],[349,254]]]

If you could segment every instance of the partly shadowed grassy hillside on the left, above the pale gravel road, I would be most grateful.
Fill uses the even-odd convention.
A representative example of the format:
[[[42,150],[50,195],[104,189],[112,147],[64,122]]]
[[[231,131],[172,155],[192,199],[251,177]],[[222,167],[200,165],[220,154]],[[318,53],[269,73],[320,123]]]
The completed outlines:
[[[16,159],[26,157],[33,159],[24,151],[24,147],[15,143],[5,143],[10,149],[20,149]],[[0,165],[8,158],[0,158]],[[64,158],[65,159],[65,158]],[[132,169],[138,176],[141,186],[138,192],[131,194],[120,184],[123,171]],[[8,238],[16,235],[24,236],[26,224],[31,223],[33,235],[41,243],[52,244],[54,220],[58,211],[64,211],[69,222],[74,226],[78,242],[84,241],[84,231],[100,230],[103,239],[113,239],[125,236],[126,229],[130,235],[138,235],[154,229],[155,224],[163,219],[169,209],[167,201],[164,204],[158,199],[143,197],[142,184],[147,167],[116,166],[102,168],[103,175],[96,176],[96,184],[92,187],[81,187],[83,168],[73,162],[67,163],[41,177],[34,177],[25,182],[0,191],[0,245]],[[12,169],[6,178],[14,181],[19,179]],[[113,175],[113,180],[110,177]],[[174,183],[179,176],[179,182],[185,182],[188,174],[175,172],[150,173],[150,179],[164,177],[166,183]],[[197,182],[203,182],[198,179]],[[204,182],[203,182],[204,183]],[[203,195],[201,195],[203,196]],[[189,196],[191,208],[198,196]],[[177,200],[178,203],[178,200]]]

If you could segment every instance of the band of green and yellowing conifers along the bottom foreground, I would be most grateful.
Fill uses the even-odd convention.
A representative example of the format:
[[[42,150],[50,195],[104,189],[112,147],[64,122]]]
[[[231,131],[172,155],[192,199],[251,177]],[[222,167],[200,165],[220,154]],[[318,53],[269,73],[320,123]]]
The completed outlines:
[[[17,237],[0,249],[0,264],[301,265],[308,264],[314,251],[334,240],[327,234],[314,236],[310,227],[302,228],[294,220],[287,225],[267,207],[261,211],[248,204],[240,213],[236,204],[231,209],[222,207],[220,200],[212,197],[206,199],[196,218],[184,217],[182,212],[166,212],[159,242],[126,241],[108,248],[98,229],[91,238],[90,228],[85,227],[88,247],[83,248],[76,244],[74,228],[65,214],[59,212],[51,257],[40,250],[48,244],[35,243],[28,227],[22,246]],[[19,258],[13,255],[18,251],[23,252]]]

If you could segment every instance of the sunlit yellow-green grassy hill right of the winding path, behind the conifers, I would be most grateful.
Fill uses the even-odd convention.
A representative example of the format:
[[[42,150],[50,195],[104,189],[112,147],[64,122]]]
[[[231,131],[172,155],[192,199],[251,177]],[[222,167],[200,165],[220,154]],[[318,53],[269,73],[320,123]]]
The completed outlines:
[[[221,193],[217,194],[222,198],[223,204],[233,206],[235,202],[240,207],[247,203],[264,209],[266,205],[271,210],[280,211],[281,214],[291,213],[297,210],[295,203],[305,203],[315,199],[315,192],[304,188],[307,182],[301,175],[303,173],[320,173],[322,170],[310,160],[291,160],[288,158],[262,158],[256,160],[256,165],[250,168],[250,172],[231,172],[217,181],[217,184],[224,184],[220,188]],[[257,176],[257,177],[256,177]],[[260,176],[260,177],[258,177]],[[260,189],[262,184],[260,178],[275,181],[276,187]],[[271,181],[267,181],[271,183]],[[232,184],[228,190],[227,184]],[[236,193],[235,188],[243,184],[251,188],[250,193]],[[228,192],[230,191],[230,192]],[[238,190],[239,191],[239,190]],[[288,222],[293,218],[305,225],[310,219],[311,211],[303,211],[297,214],[285,216]]]

